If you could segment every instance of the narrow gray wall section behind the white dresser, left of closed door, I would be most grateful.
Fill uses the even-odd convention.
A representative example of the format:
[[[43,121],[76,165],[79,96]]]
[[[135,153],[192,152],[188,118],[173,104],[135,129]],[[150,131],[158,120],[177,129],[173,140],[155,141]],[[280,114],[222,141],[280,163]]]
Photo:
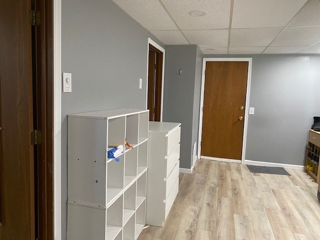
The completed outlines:
[[[196,45],[166,45],[163,121],[181,122],[180,167],[191,168]],[[179,69],[182,74],[179,75]],[[195,117],[196,118],[196,117]]]

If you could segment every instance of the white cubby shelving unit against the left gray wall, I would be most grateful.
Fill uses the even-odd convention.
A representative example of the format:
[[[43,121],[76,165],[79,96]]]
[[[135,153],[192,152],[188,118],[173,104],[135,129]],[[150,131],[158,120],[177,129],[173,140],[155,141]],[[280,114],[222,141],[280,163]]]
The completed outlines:
[[[127,108],[68,115],[67,240],[135,240],[140,234],[148,118],[148,110]],[[108,144],[123,144],[118,161],[107,158]]]

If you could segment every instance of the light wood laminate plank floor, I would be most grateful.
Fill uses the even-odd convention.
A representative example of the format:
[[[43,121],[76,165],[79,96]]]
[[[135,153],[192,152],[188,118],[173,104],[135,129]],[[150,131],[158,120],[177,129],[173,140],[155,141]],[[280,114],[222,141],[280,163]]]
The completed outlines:
[[[317,183],[302,170],[291,176],[251,173],[245,165],[198,159],[179,175],[179,192],[163,227],[138,240],[318,240]]]

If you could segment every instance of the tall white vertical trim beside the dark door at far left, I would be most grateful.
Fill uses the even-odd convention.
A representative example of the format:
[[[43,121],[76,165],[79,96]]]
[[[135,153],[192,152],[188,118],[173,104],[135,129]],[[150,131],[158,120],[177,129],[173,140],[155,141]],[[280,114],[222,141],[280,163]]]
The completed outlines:
[[[53,0],[53,234],[61,239],[61,0]]]

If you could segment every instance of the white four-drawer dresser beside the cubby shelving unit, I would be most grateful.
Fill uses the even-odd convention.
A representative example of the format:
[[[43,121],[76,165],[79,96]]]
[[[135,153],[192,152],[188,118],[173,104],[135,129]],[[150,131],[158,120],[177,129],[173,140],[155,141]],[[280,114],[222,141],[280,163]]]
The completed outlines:
[[[145,223],[163,226],[179,185],[181,123],[149,121]]]

